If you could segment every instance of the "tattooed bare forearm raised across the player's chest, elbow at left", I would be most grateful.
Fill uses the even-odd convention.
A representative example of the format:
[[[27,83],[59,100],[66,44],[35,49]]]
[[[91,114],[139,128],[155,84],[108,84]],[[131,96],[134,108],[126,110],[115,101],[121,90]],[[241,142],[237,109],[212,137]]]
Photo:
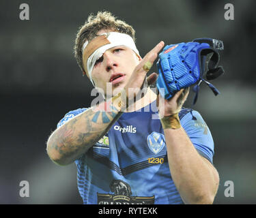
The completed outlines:
[[[59,165],[67,165],[86,153],[122,115],[120,100],[113,97],[56,129],[47,142],[49,157]]]

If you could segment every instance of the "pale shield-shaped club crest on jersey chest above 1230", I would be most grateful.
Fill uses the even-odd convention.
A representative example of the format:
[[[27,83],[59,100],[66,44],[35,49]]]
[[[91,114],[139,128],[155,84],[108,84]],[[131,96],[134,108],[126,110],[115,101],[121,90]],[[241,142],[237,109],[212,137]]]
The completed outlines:
[[[157,154],[162,151],[165,146],[165,136],[153,131],[152,134],[147,136],[147,145],[154,154]]]

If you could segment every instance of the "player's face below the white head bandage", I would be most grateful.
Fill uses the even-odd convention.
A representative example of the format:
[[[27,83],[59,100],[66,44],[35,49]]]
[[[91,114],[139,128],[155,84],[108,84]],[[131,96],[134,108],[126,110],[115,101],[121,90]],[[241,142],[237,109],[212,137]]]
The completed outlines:
[[[100,30],[98,31],[98,35],[106,32],[110,31]],[[112,96],[116,95],[126,86],[139,61],[141,61],[141,58],[137,57],[131,48],[126,46],[109,48],[96,61],[91,72],[91,78],[94,80],[95,86],[104,91],[105,96],[106,84],[108,82],[112,87]]]

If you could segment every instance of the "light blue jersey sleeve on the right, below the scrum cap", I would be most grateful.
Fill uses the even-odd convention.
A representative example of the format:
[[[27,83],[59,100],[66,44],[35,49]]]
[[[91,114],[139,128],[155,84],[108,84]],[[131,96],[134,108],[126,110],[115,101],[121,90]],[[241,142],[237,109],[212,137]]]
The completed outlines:
[[[193,116],[196,119],[193,119]],[[198,153],[213,163],[214,140],[201,114],[195,110],[190,110],[182,117],[180,123]]]

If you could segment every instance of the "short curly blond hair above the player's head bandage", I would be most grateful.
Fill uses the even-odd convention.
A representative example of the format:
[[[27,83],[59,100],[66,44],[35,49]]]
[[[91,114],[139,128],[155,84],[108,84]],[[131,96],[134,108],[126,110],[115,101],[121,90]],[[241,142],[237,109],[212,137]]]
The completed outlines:
[[[101,29],[111,29],[119,33],[126,33],[135,42],[135,31],[132,26],[117,19],[111,12],[98,12],[96,16],[90,14],[85,24],[79,28],[74,45],[74,57],[83,72],[85,72],[85,69],[83,69],[83,44],[96,37]]]

